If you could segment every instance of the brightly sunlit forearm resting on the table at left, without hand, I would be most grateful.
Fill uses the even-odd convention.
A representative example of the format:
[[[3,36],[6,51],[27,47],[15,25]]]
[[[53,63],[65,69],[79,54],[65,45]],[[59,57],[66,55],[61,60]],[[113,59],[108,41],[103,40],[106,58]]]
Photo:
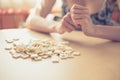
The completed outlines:
[[[40,32],[56,32],[55,27],[57,26],[57,22],[55,21],[47,21],[46,19],[40,16],[33,16],[29,21],[27,21],[27,27],[29,29],[40,31]]]

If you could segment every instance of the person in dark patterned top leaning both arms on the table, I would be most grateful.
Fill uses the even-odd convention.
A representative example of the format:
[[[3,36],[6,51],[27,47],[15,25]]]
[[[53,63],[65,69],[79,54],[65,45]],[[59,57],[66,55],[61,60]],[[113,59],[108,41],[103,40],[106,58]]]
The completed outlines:
[[[41,32],[71,32],[76,29],[93,37],[120,41],[120,26],[111,26],[113,8],[119,0],[63,0],[64,17],[61,22],[45,20],[56,0],[41,0],[28,19],[28,28]],[[74,4],[74,5],[73,5]],[[72,7],[72,8],[71,8]],[[70,13],[66,14],[66,12]]]

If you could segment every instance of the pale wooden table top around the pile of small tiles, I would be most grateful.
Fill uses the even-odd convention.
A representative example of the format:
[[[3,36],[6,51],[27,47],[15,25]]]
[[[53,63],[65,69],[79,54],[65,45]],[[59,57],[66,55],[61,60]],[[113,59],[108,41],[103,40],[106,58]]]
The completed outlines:
[[[4,50],[5,39],[20,37],[65,39],[81,56],[52,63],[13,59]],[[120,80],[120,43],[87,37],[81,32],[51,35],[28,29],[0,30],[0,80]]]

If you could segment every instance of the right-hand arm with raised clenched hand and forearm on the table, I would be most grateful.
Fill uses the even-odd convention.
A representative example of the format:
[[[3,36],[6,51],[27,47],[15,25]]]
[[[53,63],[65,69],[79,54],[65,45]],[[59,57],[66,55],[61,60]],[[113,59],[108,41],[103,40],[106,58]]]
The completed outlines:
[[[88,36],[120,41],[120,26],[94,25],[86,7],[74,5],[71,18],[74,24],[81,25],[82,31]]]

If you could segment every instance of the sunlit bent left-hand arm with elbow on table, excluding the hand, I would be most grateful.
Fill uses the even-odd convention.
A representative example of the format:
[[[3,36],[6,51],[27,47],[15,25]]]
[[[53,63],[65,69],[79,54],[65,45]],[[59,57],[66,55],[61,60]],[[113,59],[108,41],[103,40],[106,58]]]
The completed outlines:
[[[45,20],[55,1],[56,0],[41,0],[41,3],[37,2],[26,20],[27,28],[47,33],[55,32],[56,22]]]

